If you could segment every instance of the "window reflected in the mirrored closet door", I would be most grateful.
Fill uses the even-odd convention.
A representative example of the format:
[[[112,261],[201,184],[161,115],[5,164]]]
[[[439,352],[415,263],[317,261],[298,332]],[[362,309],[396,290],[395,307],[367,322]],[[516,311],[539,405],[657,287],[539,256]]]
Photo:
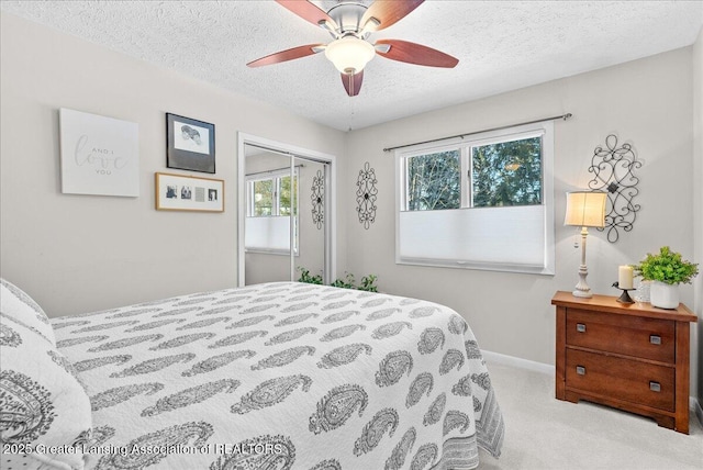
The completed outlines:
[[[298,169],[292,179],[288,169],[252,175],[246,186],[246,249],[290,254],[292,224],[293,250],[298,253]]]

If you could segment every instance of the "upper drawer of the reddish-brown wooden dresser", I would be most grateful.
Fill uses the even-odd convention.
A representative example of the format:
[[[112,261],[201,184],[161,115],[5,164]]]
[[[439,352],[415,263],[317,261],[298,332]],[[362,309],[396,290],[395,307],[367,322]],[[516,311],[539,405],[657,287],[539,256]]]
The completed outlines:
[[[570,346],[673,363],[674,323],[669,320],[569,309],[566,343]]]

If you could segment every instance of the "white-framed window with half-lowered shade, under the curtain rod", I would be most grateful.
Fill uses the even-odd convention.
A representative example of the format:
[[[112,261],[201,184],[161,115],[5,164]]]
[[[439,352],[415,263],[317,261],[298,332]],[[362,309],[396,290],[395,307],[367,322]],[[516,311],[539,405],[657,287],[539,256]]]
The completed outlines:
[[[554,273],[553,123],[399,150],[397,262]]]

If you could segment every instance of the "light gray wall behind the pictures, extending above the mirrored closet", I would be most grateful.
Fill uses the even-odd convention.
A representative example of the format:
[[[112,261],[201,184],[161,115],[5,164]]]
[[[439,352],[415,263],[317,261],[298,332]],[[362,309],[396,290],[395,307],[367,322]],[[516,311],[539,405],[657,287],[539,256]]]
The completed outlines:
[[[51,316],[236,286],[238,131],[344,153],[342,132],[12,14],[1,21],[0,273]],[[138,123],[138,198],[60,193],[59,108]],[[182,174],[166,168],[167,112],[215,124],[224,213],[155,211],[154,172]]]

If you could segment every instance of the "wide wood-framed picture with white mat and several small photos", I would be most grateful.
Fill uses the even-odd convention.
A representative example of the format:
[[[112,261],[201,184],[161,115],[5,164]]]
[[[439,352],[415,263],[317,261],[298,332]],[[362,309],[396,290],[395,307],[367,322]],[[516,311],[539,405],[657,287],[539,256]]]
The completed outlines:
[[[157,211],[224,212],[224,180],[155,174]]]

